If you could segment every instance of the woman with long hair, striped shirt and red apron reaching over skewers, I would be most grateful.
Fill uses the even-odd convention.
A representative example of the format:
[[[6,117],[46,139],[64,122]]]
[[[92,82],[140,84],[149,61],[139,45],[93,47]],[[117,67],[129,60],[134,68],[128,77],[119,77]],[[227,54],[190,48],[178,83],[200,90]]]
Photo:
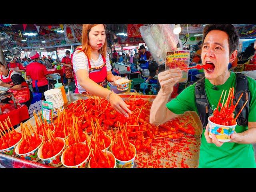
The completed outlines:
[[[71,56],[75,74],[75,93],[89,92],[106,98],[110,105],[120,114],[128,117],[132,113],[118,94],[106,89],[107,81],[120,79],[111,72],[106,50],[106,34],[103,24],[84,24],[82,30],[82,47]]]

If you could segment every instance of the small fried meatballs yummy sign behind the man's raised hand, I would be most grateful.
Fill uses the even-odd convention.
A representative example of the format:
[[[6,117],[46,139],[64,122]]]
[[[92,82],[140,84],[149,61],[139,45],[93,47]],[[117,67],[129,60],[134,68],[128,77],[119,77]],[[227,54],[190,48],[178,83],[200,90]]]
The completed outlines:
[[[186,68],[189,66],[190,50],[168,51],[166,52],[165,70],[174,68]],[[182,78],[180,83],[188,81],[188,70],[182,71]]]

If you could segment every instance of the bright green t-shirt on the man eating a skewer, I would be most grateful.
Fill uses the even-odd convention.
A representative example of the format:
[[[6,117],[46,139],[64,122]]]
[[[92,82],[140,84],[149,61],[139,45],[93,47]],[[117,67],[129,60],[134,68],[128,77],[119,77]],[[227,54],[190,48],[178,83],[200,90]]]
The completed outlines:
[[[249,105],[249,122],[256,122],[256,81],[250,77],[248,79],[248,87],[250,91]],[[236,88],[236,74],[231,73],[228,80],[217,86],[217,90],[212,89],[212,84],[205,79],[205,92],[210,106],[215,109],[220,99],[222,90]],[[184,89],[175,99],[166,104],[166,107],[175,114],[183,114],[186,111],[196,111],[195,85],[193,84]],[[238,133],[248,130],[248,126],[236,126],[235,131]],[[256,168],[254,159],[254,149],[252,144],[238,144],[226,142],[221,147],[215,144],[207,143],[204,136],[201,137],[199,168]]]

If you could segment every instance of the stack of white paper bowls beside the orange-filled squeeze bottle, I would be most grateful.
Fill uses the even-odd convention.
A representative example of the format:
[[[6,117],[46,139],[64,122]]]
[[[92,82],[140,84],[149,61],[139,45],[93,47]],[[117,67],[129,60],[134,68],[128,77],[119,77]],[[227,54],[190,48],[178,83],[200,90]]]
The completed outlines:
[[[46,101],[52,102],[53,118],[57,116],[58,110],[62,111],[64,108],[64,100],[60,89],[50,89],[44,92]]]

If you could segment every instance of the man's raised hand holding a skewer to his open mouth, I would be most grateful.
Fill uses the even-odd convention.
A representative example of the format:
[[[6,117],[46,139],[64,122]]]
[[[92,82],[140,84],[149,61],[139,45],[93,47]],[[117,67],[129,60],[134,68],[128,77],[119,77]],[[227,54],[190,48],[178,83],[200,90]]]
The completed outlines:
[[[180,68],[169,69],[158,74],[158,80],[161,85],[162,93],[168,95],[172,93],[173,86],[182,78]]]

